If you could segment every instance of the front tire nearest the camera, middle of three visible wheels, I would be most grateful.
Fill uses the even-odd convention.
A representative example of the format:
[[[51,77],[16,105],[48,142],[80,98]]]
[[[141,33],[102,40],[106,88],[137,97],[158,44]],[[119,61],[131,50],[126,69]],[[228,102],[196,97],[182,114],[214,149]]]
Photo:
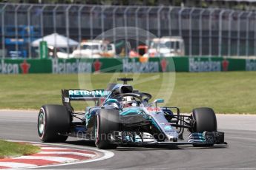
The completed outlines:
[[[111,143],[111,135],[114,135],[114,131],[119,131],[119,111],[100,109],[95,123],[95,145],[99,149],[116,149],[117,145]]]

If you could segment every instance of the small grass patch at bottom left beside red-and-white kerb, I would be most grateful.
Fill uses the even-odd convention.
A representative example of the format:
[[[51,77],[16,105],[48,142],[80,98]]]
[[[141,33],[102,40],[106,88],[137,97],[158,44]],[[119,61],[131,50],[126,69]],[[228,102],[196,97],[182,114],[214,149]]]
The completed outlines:
[[[39,151],[40,148],[38,146],[0,140],[0,159],[4,157],[18,157],[35,154]]]

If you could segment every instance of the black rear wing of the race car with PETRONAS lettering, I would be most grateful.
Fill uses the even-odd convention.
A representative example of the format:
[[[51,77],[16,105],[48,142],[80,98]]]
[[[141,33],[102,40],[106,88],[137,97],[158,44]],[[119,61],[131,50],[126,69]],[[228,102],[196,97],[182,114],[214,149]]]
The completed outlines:
[[[111,91],[105,89],[62,89],[62,103],[69,111],[73,111],[70,101],[94,101],[95,106],[100,106]]]

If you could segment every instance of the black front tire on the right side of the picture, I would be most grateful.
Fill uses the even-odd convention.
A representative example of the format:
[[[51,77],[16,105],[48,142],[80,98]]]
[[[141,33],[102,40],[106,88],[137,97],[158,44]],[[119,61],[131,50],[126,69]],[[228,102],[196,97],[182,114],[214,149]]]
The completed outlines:
[[[194,118],[194,132],[216,132],[217,119],[214,110],[211,108],[203,107],[193,109]],[[193,146],[213,146],[214,144],[193,144]]]

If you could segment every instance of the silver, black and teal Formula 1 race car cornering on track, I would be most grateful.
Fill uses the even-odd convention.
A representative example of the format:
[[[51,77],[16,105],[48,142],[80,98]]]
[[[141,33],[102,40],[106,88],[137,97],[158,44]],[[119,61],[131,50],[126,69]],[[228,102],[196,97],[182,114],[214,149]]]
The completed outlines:
[[[38,134],[42,142],[65,142],[70,137],[95,141],[99,149],[116,146],[226,144],[224,133],[217,132],[213,109],[193,109],[181,115],[177,107],[160,107],[163,99],[128,85],[132,78],[118,78],[123,84],[109,84],[93,91],[62,89],[63,105],[45,105],[39,111]],[[71,101],[93,101],[85,112],[74,112]],[[79,120],[79,121],[77,121]],[[188,129],[187,141],[183,140]]]

